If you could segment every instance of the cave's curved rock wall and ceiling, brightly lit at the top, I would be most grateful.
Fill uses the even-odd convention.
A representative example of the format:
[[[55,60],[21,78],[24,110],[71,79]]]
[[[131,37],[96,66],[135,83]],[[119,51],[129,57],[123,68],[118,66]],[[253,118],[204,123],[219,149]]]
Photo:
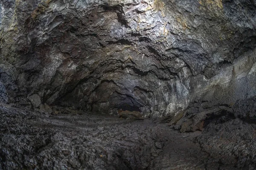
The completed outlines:
[[[199,113],[201,122],[216,110],[230,112],[256,95],[255,0],[0,6],[3,102],[24,105],[23,97],[36,94],[48,105],[140,111],[177,123],[184,115]]]

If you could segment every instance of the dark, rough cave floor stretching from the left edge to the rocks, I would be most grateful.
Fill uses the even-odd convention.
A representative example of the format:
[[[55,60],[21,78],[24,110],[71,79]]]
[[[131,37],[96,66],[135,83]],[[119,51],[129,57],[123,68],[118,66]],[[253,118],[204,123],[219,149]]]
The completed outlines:
[[[47,116],[2,105],[0,169],[204,170],[236,169],[196,142],[150,119],[59,114]],[[221,158],[223,159],[223,158]]]

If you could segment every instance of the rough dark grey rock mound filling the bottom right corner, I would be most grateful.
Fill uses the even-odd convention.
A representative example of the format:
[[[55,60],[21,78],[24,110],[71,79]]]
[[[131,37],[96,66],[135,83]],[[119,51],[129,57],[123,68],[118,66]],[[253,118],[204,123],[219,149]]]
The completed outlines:
[[[255,129],[255,124],[240,119],[233,119],[223,124],[210,123],[204,133],[196,139],[202,150],[213,157],[218,157],[207,163],[207,169],[215,169],[212,166],[214,164],[217,167],[218,164],[222,164],[222,169],[230,170],[232,169],[230,164],[236,165],[236,169],[255,169]],[[252,159],[248,159],[244,153],[250,155]]]

